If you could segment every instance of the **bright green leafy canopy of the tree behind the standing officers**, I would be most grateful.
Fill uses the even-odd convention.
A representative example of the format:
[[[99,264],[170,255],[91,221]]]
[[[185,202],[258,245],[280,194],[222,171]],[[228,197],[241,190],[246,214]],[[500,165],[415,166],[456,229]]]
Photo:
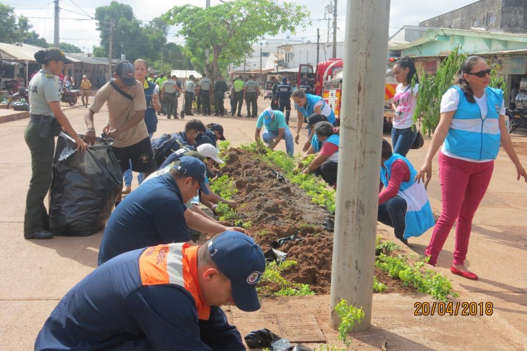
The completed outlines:
[[[161,18],[181,25],[178,35],[185,38],[184,52],[192,57],[194,67],[216,75],[225,71],[228,63],[243,62],[251,45],[265,35],[295,33],[299,25],[305,28],[303,18],[309,15],[305,6],[294,3],[233,0],[208,8],[174,6]]]

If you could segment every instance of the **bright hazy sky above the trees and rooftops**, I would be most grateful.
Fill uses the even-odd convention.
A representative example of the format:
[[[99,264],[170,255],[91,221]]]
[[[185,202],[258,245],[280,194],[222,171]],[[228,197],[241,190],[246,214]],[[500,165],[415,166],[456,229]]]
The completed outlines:
[[[170,9],[172,6],[180,6],[187,3],[196,6],[206,4],[206,0],[154,0],[151,4],[140,0],[121,0],[121,3],[132,6],[135,16],[143,21],[150,21]],[[392,0],[390,8],[389,34],[392,35],[403,25],[418,25],[419,21],[441,15],[452,11],[456,8],[468,5],[475,0],[442,0],[440,2],[428,2],[423,0]],[[9,0],[0,1],[15,8],[17,15],[30,17],[32,30],[46,38],[47,42],[53,42],[53,0]],[[320,41],[327,39],[327,21],[324,19],[324,12],[329,0],[298,0],[299,5],[305,5],[311,12],[311,25],[306,30],[301,30],[295,34],[281,33],[269,38],[285,38],[290,35],[291,38],[298,38],[305,41],[316,42],[317,27],[320,28]],[[99,32],[96,31],[95,21],[91,20],[88,15],[95,14],[95,8],[109,5],[110,0],[60,0],[60,41],[74,44],[80,47],[84,52],[93,52],[93,46],[99,44]],[[211,6],[221,4],[219,0],[211,0]],[[326,17],[327,18],[327,17]],[[337,7],[338,30],[337,41],[344,38],[345,18],[346,18],[346,1],[338,0]],[[79,19],[82,19],[79,21]],[[178,31],[177,26],[169,30],[168,40],[170,42],[184,44],[181,37],[174,34]],[[331,41],[331,34],[329,36]]]

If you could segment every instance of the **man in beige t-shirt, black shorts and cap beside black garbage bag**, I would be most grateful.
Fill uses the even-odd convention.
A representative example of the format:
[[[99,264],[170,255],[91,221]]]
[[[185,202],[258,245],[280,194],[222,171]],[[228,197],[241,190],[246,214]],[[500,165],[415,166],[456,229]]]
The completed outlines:
[[[135,80],[135,67],[130,61],[120,61],[115,66],[113,80],[106,83],[95,94],[84,121],[88,131],[84,141],[93,145],[95,127],[93,115],[108,103],[108,124],[103,129],[107,138],[114,140],[112,144],[115,157],[124,172],[130,168],[134,172],[150,173],[157,170],[154,152],[148,138],[147,125],[144,123],[144,112],[147,110],[147,100],[143,85]]]

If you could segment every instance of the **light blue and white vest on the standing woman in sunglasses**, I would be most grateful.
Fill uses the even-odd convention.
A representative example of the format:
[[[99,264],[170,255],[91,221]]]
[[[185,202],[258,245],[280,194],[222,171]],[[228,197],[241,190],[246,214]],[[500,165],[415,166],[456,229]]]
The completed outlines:
[[[500,151],[500,108],[503,103],[501,89],[486,87],[489,112],[485,119],[477,103],[466,100],[457,85],[460,102],[445,138],[445,150],[459,157],[473,160],[494,160]]]

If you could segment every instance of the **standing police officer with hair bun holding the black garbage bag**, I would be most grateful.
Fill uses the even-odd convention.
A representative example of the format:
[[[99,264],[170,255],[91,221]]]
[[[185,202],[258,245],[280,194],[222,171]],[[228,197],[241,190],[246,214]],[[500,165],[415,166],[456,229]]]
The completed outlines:
[[[50,223],[44,197],[50,190],[55,137],[64,129],[75,140],[78,151],[88,145],[77,135],[59,105],[57,76],[64,64],[72,63],[60,48],[48,47],[35,53],[43,67],[29,84],[30,122],[24,139],[31,151],[32,176],[27,190],[24,215],[25,239],[50,239]]]

